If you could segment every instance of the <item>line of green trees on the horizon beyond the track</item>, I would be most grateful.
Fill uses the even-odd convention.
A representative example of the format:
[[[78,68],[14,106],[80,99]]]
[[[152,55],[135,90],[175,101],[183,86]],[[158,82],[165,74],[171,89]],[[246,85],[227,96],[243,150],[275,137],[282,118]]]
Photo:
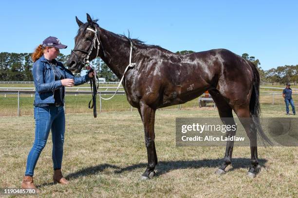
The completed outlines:
[[[194,51],[183,50],[176,53],[189,54],[194,53]],[[57,61],[65,65],[69,56],[60,53]],[[262,83],[285,84],[286,82],[292,82],[296,84],[298,81],[298,65],[285,65],[263,70],[259,59],[249,56],[247,53],[243,53],[242,57],[258,66]],[[92,65],[96,69],[99,78],[105,78],[107,82],[119,81],[111,69],[100,58],[94,59]],[[31,73],[32,66],[31,53],[0,52],[0,81],[33,81]]]

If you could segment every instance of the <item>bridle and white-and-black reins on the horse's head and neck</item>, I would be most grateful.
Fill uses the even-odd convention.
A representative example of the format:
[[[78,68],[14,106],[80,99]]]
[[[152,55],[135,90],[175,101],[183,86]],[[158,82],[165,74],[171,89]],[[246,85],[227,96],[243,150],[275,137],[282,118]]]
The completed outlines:
[[[92,99],[89,101],[88,108],[89,109],[92,109],[93,108],[93,116],[95,118],[95,117],[97,117],[97,112],[96,112],[96,95],[98,94],[99,80],[98,80],[98,77],[97,77],[97,74],[96,74],[96,70],[93,69],[92,64],[90,63],[89,58],[90,58],[90,55],[91,55],[91,53],[93,51],[93,48],[97,49],[97,52],[96,52],[96,56],[95,57],[98,56],[100,42],[99,42],[99,39],[97,37],[97,35],[99,33],[97,32],[97,28],[96,27],[95,27],[95,31],[93,29],[91,29],[91,28],[87,28],[87,30],[89,30],[89,31],[91,31],[91,32],[94,33],[93,41],[92,41],[91,46],[89,47],[89,50],[88,51],[85,51],[85,50],[82,50],[82,49],[75,49],[74,48],[74,49],[72,49],[72,52],[75,54],[76,58],[79,60],[79,62],[81,63],[81,65],[85,66],[86,69],[89,70],[88,74],[90,72],[92,72],[92,71],[94,72],[93,78],[90,80]],[[96,41],[97,41],[97,48],[96,48],[96,45],[95,45],[96,44]],[[75,53],[75,51],[80,51],[80,52],[82,52],[84,54],[87,54],[87,56],[83,59],[83,61],[81,61],[80,58],[78,57],[78,55]],[[112,95],[112,97],[106,99],[106,98],[102,98],[99,95],[99,97],[101,99],[105,99],[105,100],[112,99],[116,95],[116,93],[118,92],[118,89],[119,89],[119,87],[120,87],[120,85],[121,85],[121,83],[122,83],[122,81],[124,79],[124,75],[127,72],[128,68],[135,66],[135,63],[131,63],[131,53],[132,53],[132,42],[130,40],[130,63],[125,68],[124,73],[123,73],[123,76],[121,78],[121,81],[119,82],[119,84],[117,86],[117,89],[116,89],[115,93]],[[96,80],[95,80],[95,78],[97,79],[97,86],[96,86]],[[93,101],[92,102],[92,105],[90,105],[91,104],[91,101]]]

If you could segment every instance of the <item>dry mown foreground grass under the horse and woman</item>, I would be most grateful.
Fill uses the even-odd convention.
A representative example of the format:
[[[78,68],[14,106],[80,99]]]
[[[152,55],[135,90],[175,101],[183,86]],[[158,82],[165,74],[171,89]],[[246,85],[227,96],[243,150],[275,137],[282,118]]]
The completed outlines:
[[[279,105],[263,104],[263,117],[284,117]],[[293,116],[293,115],[292,115]],[[250,149],[234,148],[233,166],[214,174],[224,147],[175,147],[176,117],[218,117],[213,108],[157,111],[157,176],[139,180],[147,164],[143,125],[137,111],[67,114],[62,171],[68,186],[52,182],[49,137],[37,163],[42,197],[298,197],[298,148],[260,147],[261,172],[246,176]],[[34,140],[33,116],[0,117],[0,186],[19,187]]]

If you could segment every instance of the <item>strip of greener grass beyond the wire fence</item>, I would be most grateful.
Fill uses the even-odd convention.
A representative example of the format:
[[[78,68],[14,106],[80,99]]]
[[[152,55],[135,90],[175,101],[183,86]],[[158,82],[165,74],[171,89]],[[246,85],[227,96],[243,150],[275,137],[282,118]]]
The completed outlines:
[[[109,98],[111,95],[102,95],[104,98]],[[65,112],[68,113],[92,113],[93,109],[88,109],[88,103],[92,99],[90,94],[71,95],[66,94],[65,96]],[[298,95],[293,95],[294,101],[297,101]],[[263,96],[260,98],[261,104],[272,104],[272,95]],[[33,102],[34,94],[21,94],[20,95],[20,115],[33,115]],[[99,96],[97,96],[97,111],[99,112]],[[101,100],[102,111],[130,111],[130,104],[127,101],[126,95],[116,95],[111,100]],[[281,95],[274,96],[274,104],[279,111],[285,109],[284,99]],[[208,103],[208,106],[212,106],[213,103]],[[163,109],[197,109],[199,107],[198,99],[193,99],[180,106],[174,105]],[[6,95],[0,94],[0,116],[12,116],[18,115],[18,99],[17,94]],[[136,111],[135,108],[133,108]]]

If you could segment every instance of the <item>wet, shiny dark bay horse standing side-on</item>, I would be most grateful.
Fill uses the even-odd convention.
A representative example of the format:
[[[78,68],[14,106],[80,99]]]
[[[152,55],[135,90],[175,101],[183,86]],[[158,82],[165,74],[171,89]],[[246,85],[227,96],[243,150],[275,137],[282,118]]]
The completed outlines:
[[[121,79],[129,64],[130,43],[132,43],[131,62],[136,63],[125,73],[122,85],[130,105],[141,115],[148,165],[143,179],[155,175],[157,164],[155,149],[154,119],[155,111],[161,107],[182,104],[209,91],[214,99],[224,124],[234,125],[232,111],[240,118],[250,139],[251,167],[248,175],[255,177],[258,167],[257,132],[270,143],[259,123],[260,75],[255,65],[227,49],[212,49],[187,55],[176,54],[159,46],[145,45],[137,39],[109,32],[97,24],[87,14],[87,22],[76,17],[79,26],[75,37],[75,49],[67,61],[68,68],[80,72],[84,59],[98,56]],[[88,28],[88,29],[87,29]],[[93,31],[90,31],[92,29]],[[95,35],[95,33],[97,35]],[[93,38],[97,36],[98,39]],[[93,49],[99,46],[99,51]],[[90,49],[93,49],[92,51]],[[227,119],[230,118],[230,119]],[[247,119],[251,121],[245,121]],[[230,131],[227,135],[235,135]],[[231,164],[234,141],[227,141],[223,164],[217,174],[223,174]]]

